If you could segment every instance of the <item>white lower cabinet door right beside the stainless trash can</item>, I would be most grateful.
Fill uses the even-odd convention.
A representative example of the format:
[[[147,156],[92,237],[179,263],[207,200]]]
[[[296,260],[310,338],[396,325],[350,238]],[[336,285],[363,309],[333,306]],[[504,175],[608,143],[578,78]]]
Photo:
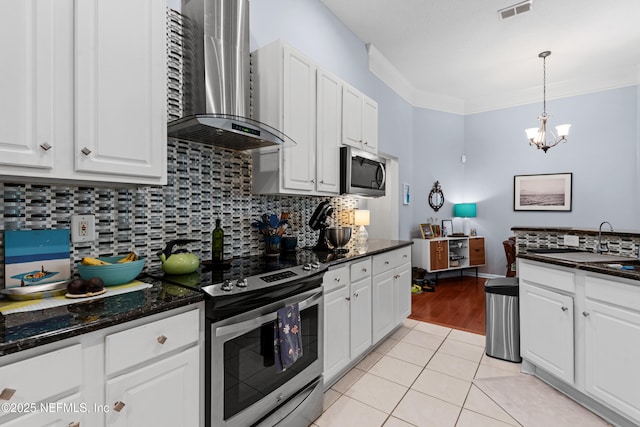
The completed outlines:
[[[574,381],[573,298],[520,280],[522,357],[568,382]]]

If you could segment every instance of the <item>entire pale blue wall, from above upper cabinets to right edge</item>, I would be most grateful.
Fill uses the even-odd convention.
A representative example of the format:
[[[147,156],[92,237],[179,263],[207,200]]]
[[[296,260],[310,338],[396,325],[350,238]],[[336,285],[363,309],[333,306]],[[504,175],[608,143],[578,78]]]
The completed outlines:
[[[524,129],[537,126],[542,103],[460,116],[413,108],[368,69],[366,47],[319,0],[251,1],[251,48],[282,39],[378,102],[380,151],[398,157],[400,238],[416,237],[429,217],[451,218],[453,203],[478,203],[472,226],[487,238],[485,273],[504,274],[502,240],[513,226],[640,229],[640,87],[548,101],[552,125],[571,123],[566,144],[543,153]],[[460,158],[466,154],[467,162]],[[514,212],[513,176],[573,173],[573,211]],[[439,180],[445,206],[434,212],[428,192]],[[401,191],[399,191],[402,194]]]

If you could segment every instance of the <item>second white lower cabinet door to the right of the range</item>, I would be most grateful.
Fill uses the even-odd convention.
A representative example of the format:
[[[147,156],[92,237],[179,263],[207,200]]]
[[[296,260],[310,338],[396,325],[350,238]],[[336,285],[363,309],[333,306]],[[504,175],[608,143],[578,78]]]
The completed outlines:
[[[351,284],[351,359],[371,346],[371,278]]]

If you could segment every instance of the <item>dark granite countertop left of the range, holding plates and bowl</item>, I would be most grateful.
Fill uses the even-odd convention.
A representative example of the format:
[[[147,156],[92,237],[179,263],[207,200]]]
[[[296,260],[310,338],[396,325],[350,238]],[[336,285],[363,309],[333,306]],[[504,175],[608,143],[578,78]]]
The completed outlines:
[[[196,304],[203,295],[143,273],[150,288],[60,307],[0,315],[0,356]]]

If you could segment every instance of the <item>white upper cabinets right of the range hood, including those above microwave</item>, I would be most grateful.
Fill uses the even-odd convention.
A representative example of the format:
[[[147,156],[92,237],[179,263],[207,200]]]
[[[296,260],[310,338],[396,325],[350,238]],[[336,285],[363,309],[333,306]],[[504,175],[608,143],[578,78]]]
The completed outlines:
[[[254,118],[296,142],[253,152],[252,191],[339,194],[340,146],[378,151],[378,104],[279,40],[252,61]]]

